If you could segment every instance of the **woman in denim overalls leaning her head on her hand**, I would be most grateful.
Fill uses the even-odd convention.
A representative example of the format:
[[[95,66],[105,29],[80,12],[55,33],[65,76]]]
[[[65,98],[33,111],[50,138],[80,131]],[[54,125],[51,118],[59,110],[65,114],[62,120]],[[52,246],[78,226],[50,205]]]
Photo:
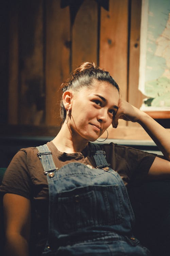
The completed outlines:
[[[133,237],[124,184],[169,177],[168,131],[121,100],[114,79],[94,63],[82,63],[62,89],[60,132],[44,147],[21,149],[5,172],[5,255],[150,255]],[[139,123],[167,160],[89,143],[119,118]]]

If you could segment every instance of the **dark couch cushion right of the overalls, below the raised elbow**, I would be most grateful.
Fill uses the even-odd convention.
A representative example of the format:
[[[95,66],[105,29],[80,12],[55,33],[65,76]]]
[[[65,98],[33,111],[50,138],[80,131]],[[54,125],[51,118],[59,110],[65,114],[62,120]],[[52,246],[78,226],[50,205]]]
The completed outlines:
[[[128,189],[136,217],[134,233],[154,256],[170,255],[170,180]]]

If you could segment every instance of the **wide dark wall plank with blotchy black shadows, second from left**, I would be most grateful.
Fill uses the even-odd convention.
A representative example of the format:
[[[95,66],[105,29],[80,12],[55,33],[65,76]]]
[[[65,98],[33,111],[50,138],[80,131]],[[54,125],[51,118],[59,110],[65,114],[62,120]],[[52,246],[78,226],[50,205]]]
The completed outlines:
[[[19,123],[38,125],[44,115],[43,0],[19,2]]]

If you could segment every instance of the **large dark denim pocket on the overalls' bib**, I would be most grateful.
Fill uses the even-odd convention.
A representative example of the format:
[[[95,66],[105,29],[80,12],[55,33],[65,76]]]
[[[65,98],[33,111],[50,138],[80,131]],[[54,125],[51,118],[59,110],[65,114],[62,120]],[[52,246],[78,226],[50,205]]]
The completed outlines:
[[[124,217],[118,185],[78,187],[58,194],[55,227],[72,232],[99,225],[120,224]]]

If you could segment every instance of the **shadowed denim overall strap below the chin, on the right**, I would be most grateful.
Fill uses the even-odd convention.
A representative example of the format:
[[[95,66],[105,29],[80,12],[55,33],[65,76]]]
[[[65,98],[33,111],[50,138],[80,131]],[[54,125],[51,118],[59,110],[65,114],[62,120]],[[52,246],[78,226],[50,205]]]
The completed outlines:
[[[96,168],[102,169],[110,166],[110,164],[106,160],[106,152],[102,151],[98,144],[89,142],[89,146],[96,162]]]

